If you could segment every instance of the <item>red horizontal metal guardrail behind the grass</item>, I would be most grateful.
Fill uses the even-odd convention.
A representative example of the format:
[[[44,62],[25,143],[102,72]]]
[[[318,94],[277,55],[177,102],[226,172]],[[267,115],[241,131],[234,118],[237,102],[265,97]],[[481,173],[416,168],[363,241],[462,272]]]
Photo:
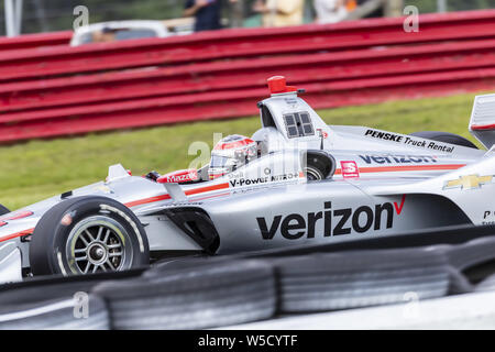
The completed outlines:
[[[488,10],[426,14],[417,33],[376,19],[1,51],[0,143],[254,114],[274,74],[318,109],[490,90],[494,20]]]

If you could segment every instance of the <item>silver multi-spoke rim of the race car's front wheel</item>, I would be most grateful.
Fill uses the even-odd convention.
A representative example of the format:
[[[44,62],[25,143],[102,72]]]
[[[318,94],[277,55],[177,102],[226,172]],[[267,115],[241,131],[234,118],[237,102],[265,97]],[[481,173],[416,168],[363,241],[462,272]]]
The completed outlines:
[[[131,267],[128,231],[108,217],[86,218],[74,227],[67,239],[67,263],[74,274],[119,272]]]

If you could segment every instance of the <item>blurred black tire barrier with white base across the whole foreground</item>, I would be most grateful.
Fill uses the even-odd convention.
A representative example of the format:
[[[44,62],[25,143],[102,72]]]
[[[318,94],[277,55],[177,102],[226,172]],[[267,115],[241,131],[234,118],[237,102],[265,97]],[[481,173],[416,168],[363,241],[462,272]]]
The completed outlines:
[[[493,227],[459,227],[28,279],[0,286],[0,329],[310,329],[317,321],[322,329],[492,327],[492,310],[480,320],[469,306],[443,311],[452,301],[479,311],[475,297],[493,297],[494,245]],[[81,293],[92,319],[74,317]],[[405,320],[398,312],[410,301],[442,316],[427,310]],[[375,321],[375,311],[392,316]]]

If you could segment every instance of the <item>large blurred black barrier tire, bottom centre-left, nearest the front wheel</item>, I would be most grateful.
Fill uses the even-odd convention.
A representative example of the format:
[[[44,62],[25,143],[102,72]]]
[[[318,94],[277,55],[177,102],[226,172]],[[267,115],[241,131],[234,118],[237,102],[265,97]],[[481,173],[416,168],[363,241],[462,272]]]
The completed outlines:
[[[106,282],[113,329],[208,329],[272,318],[273,267],[258,261],[195,262],[196,267],[152,267],[141,277]]]

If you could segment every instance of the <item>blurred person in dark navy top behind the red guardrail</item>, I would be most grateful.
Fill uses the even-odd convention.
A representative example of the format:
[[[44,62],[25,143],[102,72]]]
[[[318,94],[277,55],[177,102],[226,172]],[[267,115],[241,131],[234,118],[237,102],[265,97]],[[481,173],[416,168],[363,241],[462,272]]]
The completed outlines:
[[[187,0],[184,16],[195,16],[195,32],[220,30],[220,0]]]

